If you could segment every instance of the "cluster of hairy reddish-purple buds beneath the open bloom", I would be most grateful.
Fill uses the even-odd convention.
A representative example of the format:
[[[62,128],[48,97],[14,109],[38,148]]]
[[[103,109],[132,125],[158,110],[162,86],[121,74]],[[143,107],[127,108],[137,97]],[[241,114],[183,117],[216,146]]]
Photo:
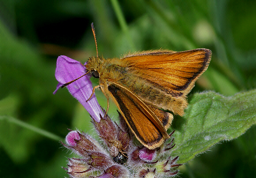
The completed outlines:
[[[100,122],[93,119],[93,123],[105,146],[79,131],[71,131],[66,136],[63,145],[79,155],[79,158],[68,159],[68,168],[64,168],[71,178],[166,178],[177,175],[177,167],[181,166],[177,164],[178,156],[169,156],[173,139],[160,148],[149,150],[136,146],[128,130],[123,130],[108,115]],[[113,147],[117,148],[117,155],[112,154]]]

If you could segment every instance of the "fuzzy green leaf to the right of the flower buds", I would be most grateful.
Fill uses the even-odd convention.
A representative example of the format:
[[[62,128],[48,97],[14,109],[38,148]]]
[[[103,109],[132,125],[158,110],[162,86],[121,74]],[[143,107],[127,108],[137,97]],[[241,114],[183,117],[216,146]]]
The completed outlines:
[[[219,141],[239,137],[256,123],[256,89],[225,97],[215,92],[192,97],[184,117],[174,119],[173,155],[186,163]]]

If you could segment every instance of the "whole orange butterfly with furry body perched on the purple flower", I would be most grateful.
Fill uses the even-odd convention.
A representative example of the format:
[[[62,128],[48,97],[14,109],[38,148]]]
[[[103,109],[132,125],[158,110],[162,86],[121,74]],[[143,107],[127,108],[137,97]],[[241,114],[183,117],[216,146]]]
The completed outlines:
[[[169,138],[173,114],[184,114],[186,96],[207,69],[211,50],[151,50],[105,59],[98,56],[93,23],[91,26],[97,56],[88,59],[86,74],[99,78],[92,94],[100,88],[107,98],[106,112],[111,99],[139,142],[149,149],[158,148]]]

